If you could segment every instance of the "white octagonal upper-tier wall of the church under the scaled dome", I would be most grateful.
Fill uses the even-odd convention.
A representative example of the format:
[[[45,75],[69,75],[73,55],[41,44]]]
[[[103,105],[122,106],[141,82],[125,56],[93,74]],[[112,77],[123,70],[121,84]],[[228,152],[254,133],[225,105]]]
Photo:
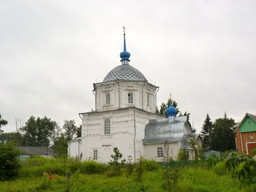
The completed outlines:
[[[134,106],[155,113],[156,88],[149,83],[125,80],[95,84],[97,111],[114,110],[118,109],[119,106],[120,108]],[[106,104],[106,94],[108,93],[110,94],[110,104]],[[129,93],[133,94],[133,103],[128,102]],[[149,96],[149,106],[147,105],[147,95]]]

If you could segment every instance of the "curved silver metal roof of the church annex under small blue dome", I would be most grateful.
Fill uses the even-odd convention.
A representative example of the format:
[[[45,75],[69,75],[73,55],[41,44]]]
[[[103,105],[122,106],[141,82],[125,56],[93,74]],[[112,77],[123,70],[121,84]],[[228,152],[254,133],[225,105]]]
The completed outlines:
[[[146,143],[163,143],[168,142],[187,141],[189,135],[184,134],[184,124],[188,123],[187,116],[175,117],[174,121],[169,123],[168,118],[149,120],[145,126],[145,138],[142,140]]]

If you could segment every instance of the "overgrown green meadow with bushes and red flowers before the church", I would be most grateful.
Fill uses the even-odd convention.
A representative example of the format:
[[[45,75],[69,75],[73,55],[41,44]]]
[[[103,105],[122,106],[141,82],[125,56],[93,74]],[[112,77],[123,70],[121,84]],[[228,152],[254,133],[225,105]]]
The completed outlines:
[[[126,165],[127,166],[127,165]],[[205,167],[184,168],[172,189],[164,185],[164,168],[154,160],[144,160],[139,172],[133,169],[127,174],[127,167],[120,169],[117,176],[108,164],[92,160],[79,161],[75,158],[47,159],[40,156],[22,162],[20,176],[0,182],[0,192],[32,191],[174,191],[174,192],[246,192],[254,186],[239,189],[239,180],[234,173],[225,169],[225,162],[212,169]],[[138,174],[141,179],[138,180]],[[1,175],[0,175],[1,176]]]

